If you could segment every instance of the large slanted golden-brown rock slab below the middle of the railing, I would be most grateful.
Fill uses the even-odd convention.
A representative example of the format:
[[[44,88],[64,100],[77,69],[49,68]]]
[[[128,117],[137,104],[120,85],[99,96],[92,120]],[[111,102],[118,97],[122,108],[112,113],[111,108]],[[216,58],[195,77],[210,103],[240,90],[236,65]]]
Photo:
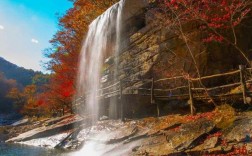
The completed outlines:
[[[145,139],[134,155],[169,155],[192,148],[198,139],[211,132],[214,127],[214,123],[207,119],[182,124],[176,131],[168,130],[163,132],[165,135],[155,135]]]

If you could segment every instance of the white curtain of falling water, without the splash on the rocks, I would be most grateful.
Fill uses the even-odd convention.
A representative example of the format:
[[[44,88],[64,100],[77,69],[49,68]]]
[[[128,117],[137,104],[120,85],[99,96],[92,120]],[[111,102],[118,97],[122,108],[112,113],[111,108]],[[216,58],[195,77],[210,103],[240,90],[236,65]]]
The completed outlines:
[[[98,120],[99,115],[97,90],[101,86],[100,79],[105,57],[107,57],[107,53],[114,56],[118,55],[123,3],[124,0],[116,3],[95,19],[90,24],[83,43],[77,82],[77,96],[88,95],[86,96],[84,112],[85,115],[92,116],[93,123]],[[117,64],[117,61],[115,61],[115,66]]]

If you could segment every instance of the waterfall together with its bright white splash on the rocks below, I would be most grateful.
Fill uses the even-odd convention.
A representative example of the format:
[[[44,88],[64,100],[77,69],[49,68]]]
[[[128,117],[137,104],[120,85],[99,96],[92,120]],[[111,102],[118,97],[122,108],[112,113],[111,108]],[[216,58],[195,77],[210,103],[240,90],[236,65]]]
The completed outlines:
[[[107,129],[101,130],[102,128],[96,127],[97,124],[95,124],[98,120],[99,112],[103,111],[97,98],[97,90],[101,87],[100,80],[104,60],[108,56],[114,56],[114,69],[110,73],[110,76],[113,75],[112,79],[116,82],[118,80],[117,75],[119,75],[117,71],[120,63],[118,59],[119,52],[122,47],[127,46],[127,43],[122,45],[122,41],[127,38],[127,35],[125,35],[127,34],[127,29],[129,29],[126,28],[127,24],[125,23],[132,16],[136,15],[137,11],[146,7],[146,5],[146,0],[121,0],[110,7],[89,26],[80,58],[77,96],[86,95],[85,110],[84,112],[81,111],[81,113],[85,113],[83,114],[84,116],[90,115],[92,117],[93,126],[83,130],[82,137],[91,139],[86,138],[89,141],[85,142],[84,147],[76,155],[106,155],[109,151],[116,152],[116,155],[125,155],[121,154],[127,151],[125,149],[133,148],[131,145],[123,145],[122,149],[118,151],[116,150],[118,144],[106,145],[92,140],[107,140],[109,139],[109,135],[107,134],[111,132]],[[109,101],[109,114],[116,117],[118,114],[117,100],[116,98],[111,98]],[[122,124],[120,121],[111,120],[109,122],[111,125]]]

